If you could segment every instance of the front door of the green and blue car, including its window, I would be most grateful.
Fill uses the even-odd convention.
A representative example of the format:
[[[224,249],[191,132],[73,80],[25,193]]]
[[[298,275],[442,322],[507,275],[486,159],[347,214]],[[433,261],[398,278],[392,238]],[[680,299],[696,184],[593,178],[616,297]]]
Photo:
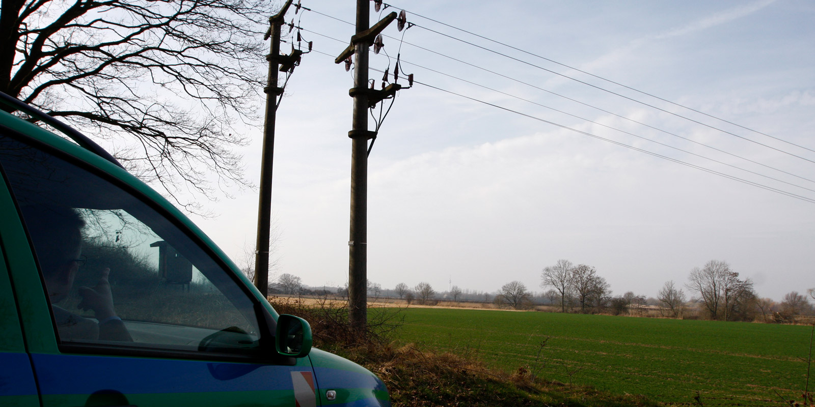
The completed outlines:
[[[0,130],[0,236],[44,407],[317,404],[308,357],[276,355],[274,310],[185,217],[72,143]]]

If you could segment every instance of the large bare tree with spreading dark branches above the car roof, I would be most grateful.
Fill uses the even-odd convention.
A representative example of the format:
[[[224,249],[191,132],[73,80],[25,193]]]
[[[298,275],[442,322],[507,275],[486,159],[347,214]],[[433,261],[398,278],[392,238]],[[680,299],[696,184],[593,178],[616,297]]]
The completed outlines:
[[[248,185],[232,125],[259,119],[271,14],[259,0],[3,1],[0,91],[110,140],[195,211],[178,193]]]

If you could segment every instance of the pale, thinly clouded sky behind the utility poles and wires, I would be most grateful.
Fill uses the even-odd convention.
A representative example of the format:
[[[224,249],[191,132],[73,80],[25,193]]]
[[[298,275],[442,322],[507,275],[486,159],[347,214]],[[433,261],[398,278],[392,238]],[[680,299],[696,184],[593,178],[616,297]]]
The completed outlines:
[[[302,3],[313,11],[287,20],[315,51],[277,111],[275,273],[336,287],[348,274],[353,79],[333,59],[354,27],[326,15],[353,22],[355,2]],[[371,68],[392,72],[385,53],[399,54],[417,83],[368,160],[369,280],[545,291],[541,270],[566,259],[596,267],[615,295],[655,296],[725,260],[762,297],[815,287],[815,3],[394,0],[382,15],[399,7],[416,25],[386,28]],[[262,133],[245,131],[258,184]],[[258,196],[233,194],[193,220],[240,263]]]

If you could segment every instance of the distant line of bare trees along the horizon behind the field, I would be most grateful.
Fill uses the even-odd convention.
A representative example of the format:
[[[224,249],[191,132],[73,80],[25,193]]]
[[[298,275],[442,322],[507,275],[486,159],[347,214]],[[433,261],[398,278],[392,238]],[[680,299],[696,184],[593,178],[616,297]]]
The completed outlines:
[[[750,278],[742,278],[730,265],[710,260],[703,267],[691,269],[684,287],[685,294],[674,281],[665,282],[656,298],[646,298],[627,291],[612,295],[606,278],[590,265],[574,265],[569,260],[557,260],[540,274],[540,287],[548,288],[535,294],[519,281],[504,284],[492,293],[462,290],[452,286],[448,291],[436,291],[430,282],[409,287],[399,282],[392,289],[368,281],[368,298],[399,298],[407,304],[438,304],[438,300],[491,302],[499,308],[531,309],[536,304],[556,306],[561,312],[610,313],[612,315],[644,315],[659,312],[664,317],[705,317],[720,321],[792,322],[799,315],[812,314],[815,288],[806,294],[791,291],[780,303],[761,298]],[[293,274],[280,274],[269,285],[270,293],[284,295],[347,295],[347,287],[306,287]]]

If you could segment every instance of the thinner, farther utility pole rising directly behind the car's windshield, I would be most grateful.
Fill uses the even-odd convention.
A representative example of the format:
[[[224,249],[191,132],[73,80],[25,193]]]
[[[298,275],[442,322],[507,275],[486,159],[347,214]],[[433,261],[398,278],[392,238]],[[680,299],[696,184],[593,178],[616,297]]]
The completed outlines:
[[[271,37],[271,50],[266,59],[269,61],[269,77],[266,92],[266,119],[263,121],[263,147],[260,174],[260,198],[258,199],[258,240],[255,243],[255,277],[254,283],[258,290],[267,296],[269,293],[269,245],[271,232],[271,169],[275,160],[275,113],[277,112],[277,98],[283,94],[283,89],[277,86],[279,65],[293,63],[302,52],[293,52],[292,55],[280,55],[280,26],[284,24],[284,16],[293,0],[287,0],[276,15],[269,18],[269,30],[264,40]],[[288,70],[288,69],[286,69]]]

